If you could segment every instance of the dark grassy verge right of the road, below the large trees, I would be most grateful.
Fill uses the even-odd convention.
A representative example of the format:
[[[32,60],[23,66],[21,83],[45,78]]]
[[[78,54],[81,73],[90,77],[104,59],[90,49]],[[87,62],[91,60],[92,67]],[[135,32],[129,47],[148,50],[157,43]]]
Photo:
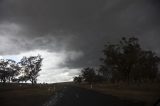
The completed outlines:
[[[83,88],[91,89],[89,84],[78,85]],[[93,84],[91,90],[96,90],[104,94],[117,96],[120,99],[129,99],[132,101],[142,101],[146,106],[153,104],[160,99],[160,84],[143,84],[143,85],[127,85],[127,84]]]

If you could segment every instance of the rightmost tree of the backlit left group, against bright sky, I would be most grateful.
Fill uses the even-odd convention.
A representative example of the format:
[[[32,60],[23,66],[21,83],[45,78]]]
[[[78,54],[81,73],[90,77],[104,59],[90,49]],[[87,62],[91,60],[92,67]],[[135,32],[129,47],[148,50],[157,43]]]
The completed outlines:
[[[21,65],[25,71],[25,78],[28,78],[32,84],[37,82],[37,77],[39,71],[41,71],[41,63],[42,58],[40,55],[38,56],[30,56],[30,57],[23,57],[21,59]],[[21,78],[23,79],[23,78]]]

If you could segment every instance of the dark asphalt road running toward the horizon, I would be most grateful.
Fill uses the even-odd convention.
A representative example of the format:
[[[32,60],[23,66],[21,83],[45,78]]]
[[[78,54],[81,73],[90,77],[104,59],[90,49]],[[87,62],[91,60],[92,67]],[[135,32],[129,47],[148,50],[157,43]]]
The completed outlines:
[[[67,86],[43,106],[144,106],[143,103],[121,100],[111,95]]]

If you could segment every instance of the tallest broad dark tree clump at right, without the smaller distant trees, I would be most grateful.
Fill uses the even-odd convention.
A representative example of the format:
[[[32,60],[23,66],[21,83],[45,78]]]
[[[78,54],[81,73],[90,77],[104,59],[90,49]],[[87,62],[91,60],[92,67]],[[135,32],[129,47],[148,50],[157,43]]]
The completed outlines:
[[[160,58],[152,51],[143,50],[135,37],[123,37],[118,44],[107,44],[103,53],[102,66],[111,69],[113,80],[130,82],[156,77]]]

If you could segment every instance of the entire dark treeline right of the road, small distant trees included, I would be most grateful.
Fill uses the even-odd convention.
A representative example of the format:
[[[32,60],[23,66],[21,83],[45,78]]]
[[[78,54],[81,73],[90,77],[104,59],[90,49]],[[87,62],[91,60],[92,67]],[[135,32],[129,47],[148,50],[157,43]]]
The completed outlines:
[[[98,69],[84,68],[74,81],[144,83],[160,80],[160,57],[142,49],[135,37],[123,37],[117,44],[106,44],[103,54]]]

